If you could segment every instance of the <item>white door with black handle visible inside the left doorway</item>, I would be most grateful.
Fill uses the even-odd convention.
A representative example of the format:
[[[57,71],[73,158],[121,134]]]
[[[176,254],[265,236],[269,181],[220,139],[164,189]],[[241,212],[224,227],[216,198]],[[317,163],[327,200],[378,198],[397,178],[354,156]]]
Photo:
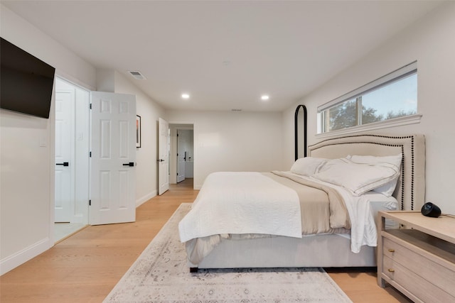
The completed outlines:
[[[73,92],[55,92],[55,222],[70,222],[74,203]]]

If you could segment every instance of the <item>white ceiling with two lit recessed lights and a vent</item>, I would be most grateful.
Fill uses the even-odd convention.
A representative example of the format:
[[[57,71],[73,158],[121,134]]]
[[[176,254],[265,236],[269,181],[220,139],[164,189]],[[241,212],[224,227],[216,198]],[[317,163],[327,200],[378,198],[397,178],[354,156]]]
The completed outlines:
[[[166,109],[282,111],[441,2],[1,4],[95,67],[124,73]]]

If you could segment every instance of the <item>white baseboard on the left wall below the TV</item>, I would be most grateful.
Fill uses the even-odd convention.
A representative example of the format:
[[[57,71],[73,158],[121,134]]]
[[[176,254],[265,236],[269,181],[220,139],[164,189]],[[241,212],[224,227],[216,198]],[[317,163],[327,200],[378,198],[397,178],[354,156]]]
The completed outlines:
[[[0,275],[4,275],[6,272],[13,270],[32,258],[35,258],[37,255],[45,252],[45,250],[48,250],[52,246],[53,243],[51,243],[50,238],[44,238],[31,246],[19,250],[17,253],[14,253],[14,255],[10,255],[9,257],[0,260]]]

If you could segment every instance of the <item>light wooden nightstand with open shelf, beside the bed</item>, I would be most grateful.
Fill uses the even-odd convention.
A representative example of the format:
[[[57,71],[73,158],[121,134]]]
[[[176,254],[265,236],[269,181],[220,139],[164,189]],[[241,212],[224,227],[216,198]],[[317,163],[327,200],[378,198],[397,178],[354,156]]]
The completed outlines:
[[[386,219],[400,228],[386,228]],[[455,302],[455,218],[380,211],[378,231],[380,287],[387,282],[414,302]]]

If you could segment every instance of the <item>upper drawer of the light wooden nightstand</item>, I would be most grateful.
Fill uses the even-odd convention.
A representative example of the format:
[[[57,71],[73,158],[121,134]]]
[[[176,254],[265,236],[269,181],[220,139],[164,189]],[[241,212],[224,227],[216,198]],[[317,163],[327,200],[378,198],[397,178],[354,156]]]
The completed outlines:
[[[427,280],[428,283],[446,290],[446,292],[451,294],[452,298],[455,298],[455,272],[449,270],[446,266],[435,263],[433,260],[437,258],[436,256],[424,250],[419,250],[420,253],[416,253],[417,248],[405,247],[410,246],[410,244],[399,238],[383,237],[382,241],[382,254],[384,255],[382,272],[390,279],[394,279],[393,272],[390,272],[390,270],[397,272],[396,267],[399,265],[400,268],[414,273],[416,277],[418,276],[423,280]]]

